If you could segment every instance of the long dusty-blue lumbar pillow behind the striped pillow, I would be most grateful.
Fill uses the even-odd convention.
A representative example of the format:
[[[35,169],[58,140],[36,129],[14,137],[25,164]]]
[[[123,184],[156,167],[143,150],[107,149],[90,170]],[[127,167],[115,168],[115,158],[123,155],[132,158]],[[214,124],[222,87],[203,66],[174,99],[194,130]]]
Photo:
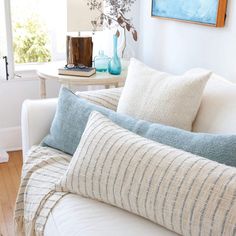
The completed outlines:
[[[60,91],[50,134],[43,139],[42,145],[73,155],[92,111],[102,113],[117,125],[145,138],[236,167],[236,135],[192,133],[138,120],[92,104],[66,88]]]

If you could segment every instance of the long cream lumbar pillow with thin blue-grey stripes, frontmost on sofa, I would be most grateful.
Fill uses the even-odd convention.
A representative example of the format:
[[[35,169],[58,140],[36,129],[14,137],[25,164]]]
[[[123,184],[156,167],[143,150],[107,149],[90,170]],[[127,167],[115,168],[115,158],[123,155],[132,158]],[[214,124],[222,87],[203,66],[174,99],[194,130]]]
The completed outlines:
[[[236,169],[90,115],[60,191],[93,198],[183,235],[234,235]]]

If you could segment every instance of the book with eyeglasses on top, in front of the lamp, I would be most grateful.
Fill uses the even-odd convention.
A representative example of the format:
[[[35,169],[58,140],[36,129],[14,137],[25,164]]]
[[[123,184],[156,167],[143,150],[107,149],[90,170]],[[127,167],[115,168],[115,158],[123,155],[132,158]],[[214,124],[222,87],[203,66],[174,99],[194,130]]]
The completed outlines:
[[[93,67],[86,67],[86,66],[73,66],[73,67],[65,66],[63,68],[59,68],[58,73],[59,75],[89,77],[96,73],[96,69]]]

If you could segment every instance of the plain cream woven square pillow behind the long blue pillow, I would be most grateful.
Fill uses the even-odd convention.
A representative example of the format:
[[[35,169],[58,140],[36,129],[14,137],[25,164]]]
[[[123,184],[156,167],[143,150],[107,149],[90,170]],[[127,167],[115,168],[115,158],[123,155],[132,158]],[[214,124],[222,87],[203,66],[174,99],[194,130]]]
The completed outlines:
[[[210,75],[173,76],[132,59],[117,112],[190,131]]]

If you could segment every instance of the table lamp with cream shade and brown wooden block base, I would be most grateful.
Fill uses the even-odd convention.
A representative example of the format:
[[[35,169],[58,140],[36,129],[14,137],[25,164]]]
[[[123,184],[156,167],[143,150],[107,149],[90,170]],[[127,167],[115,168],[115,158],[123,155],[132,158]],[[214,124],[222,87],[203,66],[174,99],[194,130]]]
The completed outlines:
[[[67,32],[78,32],[67,36],[67,64],[92,66],[92,37],[82,36],[82,32],[101,30],[96,24],[100,15],[100,11],[90,10],[87,0],[67,0]]]

